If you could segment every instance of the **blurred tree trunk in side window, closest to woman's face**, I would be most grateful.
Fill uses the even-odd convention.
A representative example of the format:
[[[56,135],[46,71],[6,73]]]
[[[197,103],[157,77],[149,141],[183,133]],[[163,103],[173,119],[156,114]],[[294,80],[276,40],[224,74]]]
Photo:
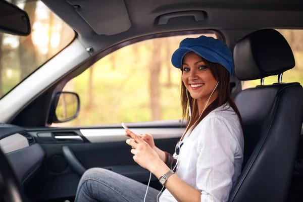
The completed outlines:
[[[160,72],[161,72],[161,39],[153,39],[153,53],[149,63],[149,100],[151,118],[153,121],[161,120],[160,103]]]

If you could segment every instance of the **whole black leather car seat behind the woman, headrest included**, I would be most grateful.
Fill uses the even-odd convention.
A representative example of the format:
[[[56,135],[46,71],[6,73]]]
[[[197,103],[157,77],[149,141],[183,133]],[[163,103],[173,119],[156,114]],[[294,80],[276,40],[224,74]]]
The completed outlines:
[[[295,65],[286,39],[263,29],[242,38],[234,48],[239,80],[279,75],[278,83],[239,92],[235,103],[243,119],[242,173],[229,201],[285,201],[303,121],[303,89],[282,83],[282,73]]]

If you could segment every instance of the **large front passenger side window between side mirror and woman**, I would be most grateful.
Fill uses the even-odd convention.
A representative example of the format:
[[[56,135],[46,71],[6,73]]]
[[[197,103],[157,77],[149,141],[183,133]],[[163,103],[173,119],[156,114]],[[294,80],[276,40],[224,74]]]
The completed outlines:
[[[63,89],[78,93],[78,118],[53,126],[181,119],[181,71],[172,66],[171,56],[182,39],[200,35],[144,40],[100,59]]]

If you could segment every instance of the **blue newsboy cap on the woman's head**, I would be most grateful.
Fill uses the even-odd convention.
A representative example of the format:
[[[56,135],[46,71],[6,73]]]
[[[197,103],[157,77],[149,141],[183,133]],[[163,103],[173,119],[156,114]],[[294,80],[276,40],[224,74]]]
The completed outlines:
[[[231,51],[222,40],[208,36],[183,39],[172,56],[173,66],[181,69],[183,57],[188,52],[194,52],[210,62],[223,65],[230,75],[234,72],[235,64]]]

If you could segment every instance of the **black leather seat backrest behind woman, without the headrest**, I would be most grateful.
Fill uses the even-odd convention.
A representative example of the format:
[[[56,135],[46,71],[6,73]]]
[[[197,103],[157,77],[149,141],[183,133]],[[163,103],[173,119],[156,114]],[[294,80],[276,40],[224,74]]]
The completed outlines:
[[[301,85],[246,89],[235,102],[244,124],[244,161],[229,201],[285,201],[303,121]]]

